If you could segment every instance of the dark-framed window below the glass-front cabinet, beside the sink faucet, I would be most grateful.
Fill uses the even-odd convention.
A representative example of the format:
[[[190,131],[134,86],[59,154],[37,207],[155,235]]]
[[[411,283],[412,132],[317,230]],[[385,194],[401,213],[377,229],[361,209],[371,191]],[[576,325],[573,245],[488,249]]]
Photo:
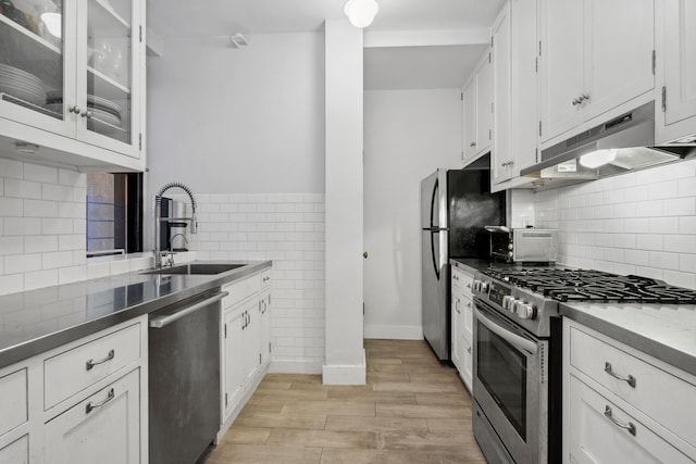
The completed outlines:
[[[142,251],[142,174],[87,174],[87,256]]]

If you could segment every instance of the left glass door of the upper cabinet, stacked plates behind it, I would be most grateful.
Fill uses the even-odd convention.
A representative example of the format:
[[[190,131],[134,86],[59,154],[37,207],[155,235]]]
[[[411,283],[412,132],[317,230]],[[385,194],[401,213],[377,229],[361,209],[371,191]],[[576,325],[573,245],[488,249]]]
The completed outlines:
[[[75,99],[74,10],[70,1],[0,0],[0,116],[74,137],[62,104],[62,96]]]

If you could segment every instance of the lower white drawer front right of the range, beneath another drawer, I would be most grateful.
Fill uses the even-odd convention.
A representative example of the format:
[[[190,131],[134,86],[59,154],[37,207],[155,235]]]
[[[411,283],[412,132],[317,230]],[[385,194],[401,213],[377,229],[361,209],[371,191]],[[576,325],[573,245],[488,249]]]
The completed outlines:
[[[573,424],[573,429],[568,434],[571,462],[693,463],[652,430],[573,375],[570,376],[569,391],[570,424]]]

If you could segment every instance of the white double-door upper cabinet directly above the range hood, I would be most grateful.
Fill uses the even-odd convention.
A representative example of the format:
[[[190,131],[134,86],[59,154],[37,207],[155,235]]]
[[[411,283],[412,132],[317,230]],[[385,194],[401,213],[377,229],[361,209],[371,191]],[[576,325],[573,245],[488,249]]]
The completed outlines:
[[[583,123],[641,96],[652,98],[654,0],[542,0],[540,5],[542,142],[572,136]]]

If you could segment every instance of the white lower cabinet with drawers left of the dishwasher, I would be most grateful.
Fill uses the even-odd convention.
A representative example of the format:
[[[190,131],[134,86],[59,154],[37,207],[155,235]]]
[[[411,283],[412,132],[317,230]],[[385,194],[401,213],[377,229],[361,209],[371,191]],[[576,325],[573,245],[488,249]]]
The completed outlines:
[[[0,464],[147,463],[147,315],[0,368]]]

